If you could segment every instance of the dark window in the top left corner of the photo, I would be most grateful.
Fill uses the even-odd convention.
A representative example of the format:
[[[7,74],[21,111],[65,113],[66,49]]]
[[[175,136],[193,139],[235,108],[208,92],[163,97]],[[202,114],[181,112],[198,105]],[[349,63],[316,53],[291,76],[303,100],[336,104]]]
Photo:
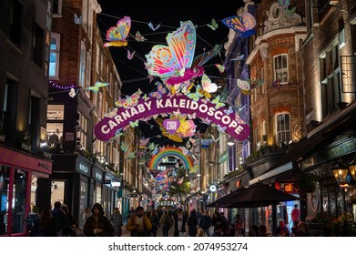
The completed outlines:
[[[9,27],[8,27],[8,37],[15,46],[19,46],[21,43],[21,31],[22,31],[22,5],[17,1],[13,0],[10,4],[9,13]]]

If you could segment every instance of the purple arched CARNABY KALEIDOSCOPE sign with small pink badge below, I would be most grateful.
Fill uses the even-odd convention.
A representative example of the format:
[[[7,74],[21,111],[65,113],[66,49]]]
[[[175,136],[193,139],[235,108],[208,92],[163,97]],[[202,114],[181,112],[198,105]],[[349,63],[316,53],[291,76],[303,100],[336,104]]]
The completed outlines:
[[[249,125],[247,125],[234,111],[219,106],[219,103],[208,101],[204,98],[191,99],[185,95],[168,96],[161,98],[139,98],[137,104],[132,107],[118,107],[115,114],[104,117],[95,128],[95,135],[99,140],[107,141],[116,135],[117,130],[126,128],[137,120],[157,117],[163,114],[195,115],[204,122],[215,123],[219,131],[226,132],[230,137],[244,140],[249,137]],[[169,120],[169,119],[168,119]],[[177,130],[178,124],[174,121],[166,121],[166,128],[170,132]],[[170,129],[172,128],[172,129]]]

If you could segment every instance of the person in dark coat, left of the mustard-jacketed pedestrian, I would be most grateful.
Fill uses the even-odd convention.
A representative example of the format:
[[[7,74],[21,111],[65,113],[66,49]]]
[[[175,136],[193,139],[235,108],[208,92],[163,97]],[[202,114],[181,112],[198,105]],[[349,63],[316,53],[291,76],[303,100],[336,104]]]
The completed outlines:
[[[99,203],[94,204],[91,213],[92,216],[86,219],[84,224],[86,237],[113,237],[114,228],[104,215],[103,206]]]

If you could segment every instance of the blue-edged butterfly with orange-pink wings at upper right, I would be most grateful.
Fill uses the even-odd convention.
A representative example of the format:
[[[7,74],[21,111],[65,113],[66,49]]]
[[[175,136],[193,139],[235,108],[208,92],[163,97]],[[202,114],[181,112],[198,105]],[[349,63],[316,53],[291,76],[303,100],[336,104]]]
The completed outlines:
[[[222,23],[229,28],[238,31],[241,38],[252,36],[256,33],[253,28],[256,26],[256,19],[249,13],[229,16],[222,20]]]

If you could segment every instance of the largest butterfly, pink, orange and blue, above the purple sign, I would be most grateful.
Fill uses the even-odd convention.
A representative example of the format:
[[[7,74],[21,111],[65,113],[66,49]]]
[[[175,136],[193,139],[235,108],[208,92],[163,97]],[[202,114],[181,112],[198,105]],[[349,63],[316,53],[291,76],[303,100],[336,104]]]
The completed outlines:
[[[203,65],[220,48],[194,57],[197,34],[191,21],[180,22],[180,27],[166,37],[168,46],[153,46],[146,55],[146,67],[150,76],[158,76],[168,85],[180,84],[204,73]]]

